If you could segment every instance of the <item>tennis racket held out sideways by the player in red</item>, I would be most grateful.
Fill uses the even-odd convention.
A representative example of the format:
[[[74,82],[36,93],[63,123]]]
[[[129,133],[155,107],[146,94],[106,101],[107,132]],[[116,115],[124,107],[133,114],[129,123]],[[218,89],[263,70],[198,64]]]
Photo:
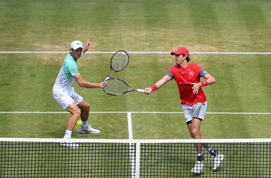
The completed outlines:
[[[108,78],[105,80],[102,85],[102,90],[104,90],[108,95],[123,95],[132,91],[144,93],[144,90],[131,87],[124,82],[124,80],[119,78]]]

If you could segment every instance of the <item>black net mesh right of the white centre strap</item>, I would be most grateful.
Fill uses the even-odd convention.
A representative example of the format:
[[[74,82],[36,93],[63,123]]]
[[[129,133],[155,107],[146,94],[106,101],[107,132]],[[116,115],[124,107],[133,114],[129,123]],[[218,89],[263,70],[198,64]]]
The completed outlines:
[[[207,150],[201,177],[271,177],[270,142],[216,143],[225,155],[213,171],[214,158]],[[146,143],[141,145],[140,177],[193,177],[196,152],[190,143]]]

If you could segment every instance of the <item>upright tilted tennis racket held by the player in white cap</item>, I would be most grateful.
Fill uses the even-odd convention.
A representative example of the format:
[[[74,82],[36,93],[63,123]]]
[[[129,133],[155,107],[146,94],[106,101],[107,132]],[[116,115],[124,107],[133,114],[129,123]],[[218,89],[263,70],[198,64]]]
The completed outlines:
[[[129,63],[129,55],[126,51],[117,51],[113,54],[110,60],[110,73],[108,73],[107,80],[114,73],[124,70],[128,66]]]

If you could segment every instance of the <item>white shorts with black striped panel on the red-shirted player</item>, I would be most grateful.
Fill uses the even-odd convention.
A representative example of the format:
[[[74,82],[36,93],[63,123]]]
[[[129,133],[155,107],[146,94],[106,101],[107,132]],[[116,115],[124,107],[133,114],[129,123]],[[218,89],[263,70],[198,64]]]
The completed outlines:
[[[193,118],[203,120],[206,115],[207,101],[206,103],[196,103],[195,105],[181,105],[184,111],[184,119],[186,123],[190,123]]]

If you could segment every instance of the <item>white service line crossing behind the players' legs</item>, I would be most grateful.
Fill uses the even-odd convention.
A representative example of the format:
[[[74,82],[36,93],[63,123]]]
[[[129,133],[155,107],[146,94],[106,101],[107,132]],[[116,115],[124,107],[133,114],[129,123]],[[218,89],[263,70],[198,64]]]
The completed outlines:
[[[182,114],[184,112],[163,112],[163,111],[101,111],[90,112],[93,114]],[[206,112],[211,115],[271,115],[271,112]],[[70,112],[55,111],[0,111],[0,114],[70,114]]]

